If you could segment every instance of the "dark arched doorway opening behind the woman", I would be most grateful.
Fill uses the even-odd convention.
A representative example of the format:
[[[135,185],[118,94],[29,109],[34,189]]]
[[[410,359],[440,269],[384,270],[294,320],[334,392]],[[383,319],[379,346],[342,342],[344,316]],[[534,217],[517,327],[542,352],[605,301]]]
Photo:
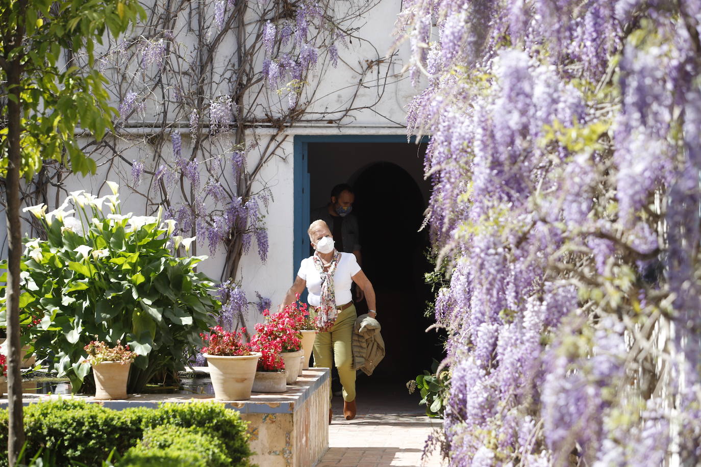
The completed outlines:
[[[359,375],[359,389],[381,379],[403,385],[428,370],[432,358],[442,358],[440,337],[425,332],[433,323],[424,316],[433,297],[424,284],[424,274],[432,268],[426,260],[428,232],[418,232],[430,193],[423,180],[424,151],[402,143],[308,145],[312,208],[328,202],[336,183],[355,189],[362,269],[377,295],[387,347],[372,377]],[[365,302],[356,306],[359,314],[367,310]]]

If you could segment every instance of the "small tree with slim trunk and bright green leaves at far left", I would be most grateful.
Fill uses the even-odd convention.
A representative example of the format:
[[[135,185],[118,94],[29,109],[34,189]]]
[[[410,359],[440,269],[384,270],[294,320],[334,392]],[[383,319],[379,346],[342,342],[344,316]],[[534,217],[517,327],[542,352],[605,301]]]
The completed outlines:
[[[43,160],[60,160],[74,172],[95,172],[74,134],[76,127],[98,139],[111,127],[109,107],[94,68],[73,66],[74,55],[93,62],[95,42],[125,32],[137,15],[136,0],[53,2],[18,0],[0,4],[0,169],[7,197],[8,274],[8,457],[15,465],[24,443],[20,375],[20,177],[32,177]],[[109,29],[109,31],[108,31]],[[62,51],[66,52],[62,57]],[[65,60],[62,60],[65,58]]]

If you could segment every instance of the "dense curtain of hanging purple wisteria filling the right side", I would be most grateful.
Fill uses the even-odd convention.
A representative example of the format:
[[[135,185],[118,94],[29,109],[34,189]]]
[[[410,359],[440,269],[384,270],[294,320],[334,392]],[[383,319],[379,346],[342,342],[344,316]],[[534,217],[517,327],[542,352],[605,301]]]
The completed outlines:
[[[451,465],[700,465],[701,3],[403,4]]]

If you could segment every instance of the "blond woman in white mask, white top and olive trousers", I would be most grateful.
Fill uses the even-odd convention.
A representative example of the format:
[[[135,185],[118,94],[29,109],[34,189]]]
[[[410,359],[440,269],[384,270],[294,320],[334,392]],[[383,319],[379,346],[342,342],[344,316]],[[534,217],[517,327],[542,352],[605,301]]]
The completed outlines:
[[[353,253],[334,249],[334,237],[324,221],[314,221],[307,230],[315,252],[299,265],[297,278],[285,295],[283,305],[294,302],[297,294],[308,291],[311,315],[319,333],[314,341],[314,366],[331,368],[335,361],[343,386],[343,417],[355,417],[355,370],[353,370],[353,324],[356,313],[351,295],[353,282],[365,292],[368,314],[377,316],[375,291],[360,269]],[[332,410],[329,409],[329,423]]]

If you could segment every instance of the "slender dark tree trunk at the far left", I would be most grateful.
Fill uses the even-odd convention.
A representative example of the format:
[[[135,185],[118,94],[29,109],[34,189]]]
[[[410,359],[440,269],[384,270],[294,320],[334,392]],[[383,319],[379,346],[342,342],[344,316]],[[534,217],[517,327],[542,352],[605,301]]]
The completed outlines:
[[[7,342],[8,342],[8,459],[14,466],[25,444],[22,417],[22,375],[20,374],[20,260],[22,258],[22,230],[20,227],[20,165],[22,132],[20,116],[20,59],[7,64],[7,88],[16,100],[8,99],[8,167],[6,176],[8,268],[7,268]]]

